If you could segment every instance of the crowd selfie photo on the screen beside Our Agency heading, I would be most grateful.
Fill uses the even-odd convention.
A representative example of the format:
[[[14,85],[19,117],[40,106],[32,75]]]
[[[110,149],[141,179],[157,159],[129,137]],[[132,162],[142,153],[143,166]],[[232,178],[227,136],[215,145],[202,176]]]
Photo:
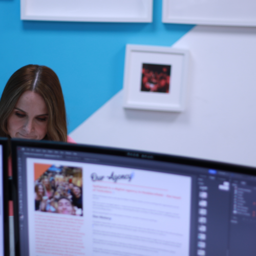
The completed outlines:
[[[82,216],[82,168],[34,163],[35,210]]]

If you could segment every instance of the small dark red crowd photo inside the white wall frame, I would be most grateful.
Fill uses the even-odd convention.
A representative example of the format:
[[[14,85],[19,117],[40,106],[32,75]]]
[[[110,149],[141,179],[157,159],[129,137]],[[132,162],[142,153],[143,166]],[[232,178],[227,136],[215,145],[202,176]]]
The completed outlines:
[[[168,93],[170,87],[170,65],[142,65],[142,92]]]

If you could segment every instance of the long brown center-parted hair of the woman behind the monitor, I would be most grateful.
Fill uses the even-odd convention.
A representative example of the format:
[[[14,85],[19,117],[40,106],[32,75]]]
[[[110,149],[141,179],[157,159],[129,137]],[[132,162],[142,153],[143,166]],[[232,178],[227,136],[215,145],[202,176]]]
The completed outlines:
[[[66,142],[66,109],[59,79],[52,69],[38,65],[22,67],[8,80],[0,100],[0,137],[10,138],[7,120],[26,91],[38,93],[45,99],[49,118],[44,140]]]

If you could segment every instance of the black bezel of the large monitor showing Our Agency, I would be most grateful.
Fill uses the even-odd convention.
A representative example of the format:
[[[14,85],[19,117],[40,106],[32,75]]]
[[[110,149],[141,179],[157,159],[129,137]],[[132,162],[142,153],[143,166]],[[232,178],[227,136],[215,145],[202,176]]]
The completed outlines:
[[[84,153],[95,153],[103,155],[121,156],[127,158],[146,159],[152,161],[169,162],[175,164],[183,164],[190,166],[197,166],[209,169],[218,169],[222,171],[240,173],[256,176],[256,168],[250,166],[243,166],[231,163],[210,161],[205,159],[196,159],[189,157],[181,157],[174,155],[166,155],[152,152],[143,152],[136,150],[129,150],[124,148],[94,146],[87,144],[74,144],[65,142],[55,142],[46,140],[24,140],[24,139],[11,139],[12,151],[12,167],[13,167],[13,204],[14,204],[14,235],[15,235],[15,255],[20,256],[19,251],[19,218],[18,218],[18,184],[17,184],[17,147],[39,147],[50,148],[54,150],[67,150],[77,151]]]

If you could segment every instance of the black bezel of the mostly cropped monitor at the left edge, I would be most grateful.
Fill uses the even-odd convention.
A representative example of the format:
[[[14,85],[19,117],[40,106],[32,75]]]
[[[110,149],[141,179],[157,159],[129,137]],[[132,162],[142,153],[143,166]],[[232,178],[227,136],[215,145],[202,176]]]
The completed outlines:
[[[10,245],[9,245],[9,198],[11,189],[9,187],[9,177],[8,177],[8,157],[9,157],[9,142],[8,138],[0,138],[0,145],[3,147],[2,157],[3,157],[3,224],[4,224],[4,255],[10,255]]]

